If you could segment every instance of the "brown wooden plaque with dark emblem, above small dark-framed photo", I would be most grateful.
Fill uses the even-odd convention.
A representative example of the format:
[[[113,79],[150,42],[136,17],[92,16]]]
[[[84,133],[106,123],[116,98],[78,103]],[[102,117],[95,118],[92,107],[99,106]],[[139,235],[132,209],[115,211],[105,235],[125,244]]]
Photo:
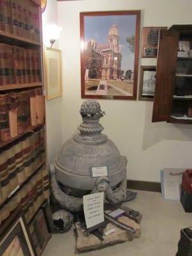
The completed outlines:
[[[167,30],[167,27],[143,27],[142,58],[157,58],[161,30]]]

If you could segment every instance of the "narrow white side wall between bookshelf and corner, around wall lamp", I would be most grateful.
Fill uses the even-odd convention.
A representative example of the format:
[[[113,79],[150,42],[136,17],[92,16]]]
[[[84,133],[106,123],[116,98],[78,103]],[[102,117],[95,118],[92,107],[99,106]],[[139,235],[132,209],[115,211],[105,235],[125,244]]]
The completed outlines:
[[[56,0],[48,0],[45,12],[42,15],[43,31],[46,24],[58,24],[58,10]],[[48,45],[46,45],[48,46]],[[54,44],[58,49],[58,42]],[[46,127],[47,127],[47,160],[53,163],[60,151],[61,140],[61,97],[46,100]]]

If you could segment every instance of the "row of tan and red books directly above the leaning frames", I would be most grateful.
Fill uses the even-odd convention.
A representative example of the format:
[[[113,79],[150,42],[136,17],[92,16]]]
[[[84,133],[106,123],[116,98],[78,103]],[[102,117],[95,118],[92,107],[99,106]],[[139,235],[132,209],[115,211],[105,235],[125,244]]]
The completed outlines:
[[[29,223],[49,195],[49,169],[44,166],[0,209],[0,225],[17,207],[21,208]]]

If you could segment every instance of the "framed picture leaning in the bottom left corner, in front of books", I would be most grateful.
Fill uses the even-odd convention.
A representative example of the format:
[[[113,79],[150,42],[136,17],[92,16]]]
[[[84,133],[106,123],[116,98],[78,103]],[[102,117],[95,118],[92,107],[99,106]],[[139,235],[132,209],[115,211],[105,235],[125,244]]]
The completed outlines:
[[[30,243],[26,223],[21,216],[17,218],[0,241],[1,256],[35,256]]]

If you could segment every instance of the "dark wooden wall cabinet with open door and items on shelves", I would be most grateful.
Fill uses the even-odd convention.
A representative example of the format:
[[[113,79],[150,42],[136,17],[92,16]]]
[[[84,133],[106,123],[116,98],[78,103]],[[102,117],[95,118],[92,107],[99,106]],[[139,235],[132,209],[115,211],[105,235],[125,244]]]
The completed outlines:
[[[192,25],[161,31],[152,122],[192,124]]]

